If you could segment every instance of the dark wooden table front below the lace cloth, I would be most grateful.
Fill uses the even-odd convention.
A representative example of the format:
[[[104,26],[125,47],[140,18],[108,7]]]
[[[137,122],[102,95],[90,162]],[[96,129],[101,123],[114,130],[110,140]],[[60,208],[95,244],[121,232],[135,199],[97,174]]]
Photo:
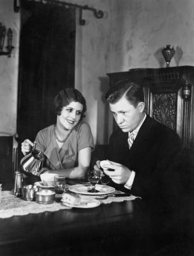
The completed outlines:
[[[128,201],[1,219],[1,255],[92,255],[103,248],[110,253],[134,229],[132,218]]]

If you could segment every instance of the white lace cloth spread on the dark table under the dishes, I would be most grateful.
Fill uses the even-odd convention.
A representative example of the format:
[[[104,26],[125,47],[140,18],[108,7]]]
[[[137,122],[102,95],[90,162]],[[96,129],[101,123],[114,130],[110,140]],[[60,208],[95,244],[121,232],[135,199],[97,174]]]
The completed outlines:
[[[60,197],[60,195],[58,195]],[[97,197],[100,203],[112,203],[134,200],[135,196],[129,197],[112,197],[111,195],[106,197]],[[62,205],[60,202],[51,204],[40,204],[36,201],[25,201],[21,197],[15,197],[11,191],[1,191],[1,209],[0,218],[10,218],[12,216],[23,216],[27,214],[40,214],[42,212],[56,212],[59,210],[68,210],[71,207]]]

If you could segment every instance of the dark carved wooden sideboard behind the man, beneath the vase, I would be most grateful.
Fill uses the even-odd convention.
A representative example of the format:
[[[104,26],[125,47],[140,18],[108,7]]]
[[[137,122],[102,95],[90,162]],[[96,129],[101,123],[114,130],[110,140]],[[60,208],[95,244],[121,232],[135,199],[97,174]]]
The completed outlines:
[[[194,67],[129,69],[107,75],[110,86],[123,80],[143,86],[146,113],[174,129],[185,149],[194,148]]]

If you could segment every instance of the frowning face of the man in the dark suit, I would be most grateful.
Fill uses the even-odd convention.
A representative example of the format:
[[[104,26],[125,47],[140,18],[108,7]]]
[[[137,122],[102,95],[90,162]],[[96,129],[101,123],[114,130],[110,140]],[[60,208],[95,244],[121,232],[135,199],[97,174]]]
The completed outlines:
[[[139,102],[135,108],[129,100],[123,97],[117,103],[109,104],[109,106],[117,125],[124,133],[133,131],[143,120],[144,102]]]

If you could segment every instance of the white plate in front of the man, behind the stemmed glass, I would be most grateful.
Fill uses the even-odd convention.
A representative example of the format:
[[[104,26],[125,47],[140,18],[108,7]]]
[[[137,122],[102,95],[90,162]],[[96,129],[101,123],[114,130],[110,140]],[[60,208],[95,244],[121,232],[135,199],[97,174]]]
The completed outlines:
[[[106,185],[96,185],[96,190],[99,192],[91,193],[88,190],[92,188],[91,184],[77,184],[69,187],[69,191],[83,194],[83,195],[105,195],[115,192],[114,187],[106,186]]]

